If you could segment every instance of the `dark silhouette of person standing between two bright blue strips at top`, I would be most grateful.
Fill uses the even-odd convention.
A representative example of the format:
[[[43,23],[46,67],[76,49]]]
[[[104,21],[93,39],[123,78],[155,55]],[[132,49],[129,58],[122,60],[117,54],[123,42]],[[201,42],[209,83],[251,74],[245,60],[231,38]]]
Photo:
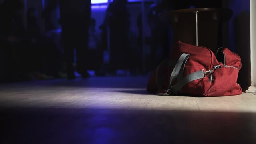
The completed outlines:
[[[107,26],[110,35],[110,73],[117,69],[125,69],[129,58],[125,58],[129,49],[128,32],[130,27],[127,0],[113,0],[109,4],[101,29],[103,30],[103,44],[107,45]],[[104,34],[105,33],[105,34]]]

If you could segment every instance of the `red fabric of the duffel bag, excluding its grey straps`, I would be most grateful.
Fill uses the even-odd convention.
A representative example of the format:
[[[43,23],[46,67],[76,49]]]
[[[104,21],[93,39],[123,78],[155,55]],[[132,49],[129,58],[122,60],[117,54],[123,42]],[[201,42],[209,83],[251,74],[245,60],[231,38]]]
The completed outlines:
[[[221,66],[221,68],[213,70],[212,73],[206,74],[204,78],[189,82],[182,88],[179,94],[197,96],[231,96],[242,94],[240,85],[236,83],[238,71],[242,66],[241,59],[237,54],[228,50],[228,48],[222,49],[222,52],[224,52],[226,57],[226,65],[233,67],[224,67],[208,48],[177,42],[175,51],[170,56],[170,60],[178,60],[183,53],[190,54],[185,64],[183,77],[198,70],[204,70],[204,72],[206,72],[212,70],[214,66]],[[161,77],[162,88],[157,87],[155,70],[149,78],[147,91],[163,93],[169,86],[169,79],[173,68],[174,66],[161,66],[161,69],[159,69],[158,77]],[[175,84],[176,81],[177,80],[175,80],[173,84]]]

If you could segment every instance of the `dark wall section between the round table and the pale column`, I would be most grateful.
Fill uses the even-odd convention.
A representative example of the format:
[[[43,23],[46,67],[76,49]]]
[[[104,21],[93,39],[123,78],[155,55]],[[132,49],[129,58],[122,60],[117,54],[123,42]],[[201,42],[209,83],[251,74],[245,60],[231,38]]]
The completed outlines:
[[[224,0],[223,6],[233,10],[233,16],[224,25],[224,46],[236,52],[242,59],[242,69],[239,72],[238,84],[247,90],[251,84],[250,68],[250,0]],[[228,28],[228,29],[227,29]]]

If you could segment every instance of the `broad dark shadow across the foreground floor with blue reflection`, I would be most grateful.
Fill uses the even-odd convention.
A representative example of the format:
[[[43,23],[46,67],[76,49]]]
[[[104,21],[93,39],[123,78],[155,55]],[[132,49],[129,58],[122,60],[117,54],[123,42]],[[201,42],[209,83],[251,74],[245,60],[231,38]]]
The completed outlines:
[[[0,108],[1,144],[255,143],[256,114]]]

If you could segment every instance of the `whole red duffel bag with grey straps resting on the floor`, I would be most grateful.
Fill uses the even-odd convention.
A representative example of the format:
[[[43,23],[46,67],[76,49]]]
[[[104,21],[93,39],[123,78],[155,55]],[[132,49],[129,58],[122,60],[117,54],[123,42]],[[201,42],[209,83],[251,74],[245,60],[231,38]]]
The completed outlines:
[[[147,91],[157,95],[242,94],[236,83],[241,58],[228,48],[219,48],[216,56],[206,47],[177,42],[171,58],[163,60],[152,72]]]

